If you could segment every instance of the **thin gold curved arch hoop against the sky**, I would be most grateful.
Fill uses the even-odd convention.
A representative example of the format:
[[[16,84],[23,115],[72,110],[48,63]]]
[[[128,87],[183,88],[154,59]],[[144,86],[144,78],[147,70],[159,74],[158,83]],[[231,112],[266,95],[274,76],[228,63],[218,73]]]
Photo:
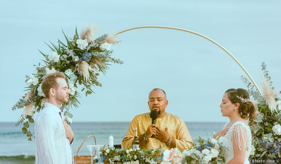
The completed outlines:
[[[190,30],[186,30],[186,29],[182,29],[182,28],[177,28],[177,27],[168,27],[168,26],[137,26],[137,27],[131,27],[125,30],[121,30],[117,33],[115,33],[115,35],[124,33],[126,31],[130,31],[130,30],[135,30],[135,29],[140,29],[140,28],[164,28],[164,29],[171,29],[171,30],[179,30],[179,31],[184,31],[187,33],[192,33],[198,36],[201,36],[202,38],[207,39],[208,41],[212,42],[213,44],[216,44],[219,48],[221,48],[222,50],[224,50],[241,68],[242,70],[246,73],[246,75],[249,77],[249,79],[252,81],[253,85],[256,87],[257,91],[259,92],[259,94],[261,94],[259,87],[256,85],[255,81],[253,80],[253,78],[251,77],[251,75],[248,73],[248,71],[244,68],[244,66],[242,66],[242,64],[229,52],[227,51],[227,49],[225,49],[224,47],[222,47],[220,44],[218,44],[216,41],[213,41],[213,39],[208,38],[205,35],[202,35],[200,33],[196,33],[194,31],[190,31]]]

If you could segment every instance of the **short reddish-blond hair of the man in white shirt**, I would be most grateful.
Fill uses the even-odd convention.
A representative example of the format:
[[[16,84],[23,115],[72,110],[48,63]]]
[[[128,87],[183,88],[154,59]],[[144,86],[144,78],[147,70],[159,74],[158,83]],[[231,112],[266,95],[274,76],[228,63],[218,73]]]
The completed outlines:
[[[49,91],[51,88],[57,89],[59,87],[59,84],[56,82],[57,78],[65,79],[64,73],[62,72],[50,73],[43,78],[43,81],[41,83],[41,88],[46,98],[50,98]]]

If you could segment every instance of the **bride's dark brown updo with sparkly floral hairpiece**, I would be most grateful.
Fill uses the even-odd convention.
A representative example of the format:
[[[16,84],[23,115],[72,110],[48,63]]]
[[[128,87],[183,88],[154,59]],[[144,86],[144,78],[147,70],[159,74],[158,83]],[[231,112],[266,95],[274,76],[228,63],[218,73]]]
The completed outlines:
[[[253,120],[256,118],[257,113],[255,105],[249,99],[249,93],[242,88],[227,89],[225,93],[227,93],[231,103],[239,103],[238,110],[241,114],[241,117],[244,119],[249,119],[250,124],[253,126]]]

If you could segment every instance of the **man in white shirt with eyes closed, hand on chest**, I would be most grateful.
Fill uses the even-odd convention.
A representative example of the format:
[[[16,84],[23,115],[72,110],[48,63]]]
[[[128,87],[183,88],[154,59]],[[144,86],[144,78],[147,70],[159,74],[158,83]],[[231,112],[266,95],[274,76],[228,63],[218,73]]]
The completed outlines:
[[[70,144],[73,131],[65,122],[60,106],[69,99],[68,85],[62,72],[46,75],[41,83],[47,98],[35,121],[36,164],[73,164]]]

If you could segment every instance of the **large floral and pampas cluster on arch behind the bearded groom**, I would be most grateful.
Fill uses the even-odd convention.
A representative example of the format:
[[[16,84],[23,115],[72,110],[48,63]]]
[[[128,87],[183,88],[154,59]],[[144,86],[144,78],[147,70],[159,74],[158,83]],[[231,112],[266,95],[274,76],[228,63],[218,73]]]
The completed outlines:
[[[64,72],[70,95],[68,103],[63,104],[62,109],[66,109],[64,115],[68,123],[71,123],[73,115],[69,109],[72,109],[72,106],[77,108],[80,104],[77,99],[80,98],[80,94],[77,92],[77,82],[80,85],[83,84],[81,92],[85,91],[87,96],[94,93],[91,86],[102,86],[97,81],[99,72],[105,75],[110,63],[123,64],[123,61],[111,56],[113,53],[112,44],[117,44],[120,40],[114,34],[104,34],[96,38],[97,27],[95,24],[89,24],[81,30],[79,35],[76,28],[73,38],[68,38],[62,31],[66,44],[60,40],[58,40],[58,46],[52,42],[51,46],[46,43],[51,49],[48,55],[39,51],[45,57],[45,60],[42,60],[44,64],[34,65],[37,73],[26,75],[25,82],[28,87],[25,91],[28,93],[12,107],[12,110],[24,109],[15,126],[23,123],[22,132],[27,134],[28,140],[31,141],[33,136],[29,129],[30,123],[34,123],[33,115],[35,112],[40,112],[46,102],[41,89],[41,82],[45,75],[56,71]]]

